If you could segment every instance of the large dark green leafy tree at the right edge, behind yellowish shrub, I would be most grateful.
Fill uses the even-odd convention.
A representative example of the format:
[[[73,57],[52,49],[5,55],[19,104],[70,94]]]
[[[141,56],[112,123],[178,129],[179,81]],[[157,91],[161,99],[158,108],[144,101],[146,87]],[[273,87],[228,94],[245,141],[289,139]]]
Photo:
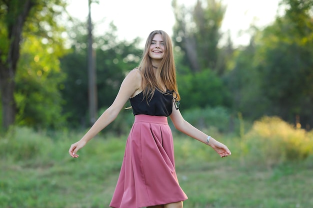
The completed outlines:
[[[313,127],[313,1],[283,0],[285,15],[268,26],[258,46],[265,111],[289,122],[300,117],[302,127]]]

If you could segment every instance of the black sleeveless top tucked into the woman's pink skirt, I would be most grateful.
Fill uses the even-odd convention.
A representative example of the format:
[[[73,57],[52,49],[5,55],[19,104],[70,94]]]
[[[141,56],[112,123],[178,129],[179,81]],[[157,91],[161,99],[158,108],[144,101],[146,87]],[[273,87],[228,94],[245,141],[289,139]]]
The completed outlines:
[[[173,91],[167,90],[166,93],[161,93],[158,90],[154,91],[154,95],[146,100],[143,97],[143,92],[129,98],[133,115],[145,114],[150,116],[169,116],[172,111]]]

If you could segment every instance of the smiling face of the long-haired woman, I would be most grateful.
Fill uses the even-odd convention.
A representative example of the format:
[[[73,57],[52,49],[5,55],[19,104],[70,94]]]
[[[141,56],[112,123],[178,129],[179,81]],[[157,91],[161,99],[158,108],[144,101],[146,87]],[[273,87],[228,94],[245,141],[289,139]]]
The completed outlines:
[[[154,61],[160,61],[164,56],[164,41],[161,34],[155,34],[149,47],[149,56]]]

